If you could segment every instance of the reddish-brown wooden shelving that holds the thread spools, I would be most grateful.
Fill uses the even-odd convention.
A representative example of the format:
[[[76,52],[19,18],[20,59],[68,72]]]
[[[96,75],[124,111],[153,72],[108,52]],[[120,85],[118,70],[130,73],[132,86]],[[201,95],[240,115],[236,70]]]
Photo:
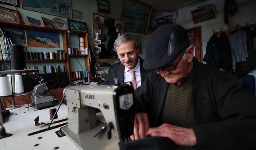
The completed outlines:
[[[0,28],[15,28],[15,29],[21,29],[21,30],[34,30],[34,31],[41,31],[41,32],[54,32],[54,33],[60,33],[62,34],[62,41],[63,41],[63,50],[64,52],[68,53],[68,39],[67,39],[67,30],[59,30],[59,29],[52,29],[52,28],[45,28],[45,27],[38,27],[38,26],[29,26],[29,25],[23,25],[23,24],[14,24],[10,22],[2,22],[0,21]],[[79,32],[79,31],[70,31],[70,34],[76,34],[78,35],[78,39],[80,37],[84,38],[84,47],[88,48],[88,33],[87,32]],[[79,42],[79,41],[78,41]],[[89,65],[89,55],[68,55],[70,57],[76,56],[76,57],[85,57],[85,66],[86,70],[90,71],[90,65]],[[4,60],[0,60],[0,62],[4,62]],[[26,60],[26,62],[47,62],[47,61],[64,61],[66,66],[66,71],[68,72],[69,76],[69,82],[71,84],[71,78],[70,78],[70,60],[67,58],[67,60]],[[7,61],[6,61],[7,62]],[[77,79],[77,78],[76,78]],[[76,80],[74,79],[74,80]]]

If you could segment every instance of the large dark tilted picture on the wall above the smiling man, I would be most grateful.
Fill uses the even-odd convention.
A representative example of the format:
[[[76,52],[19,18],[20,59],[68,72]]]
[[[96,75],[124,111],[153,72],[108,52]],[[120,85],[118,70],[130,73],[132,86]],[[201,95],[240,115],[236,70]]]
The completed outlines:
[[[152,8],[134,0],[122,0],[121,19],[124,20],[124,30],[144,34]]]

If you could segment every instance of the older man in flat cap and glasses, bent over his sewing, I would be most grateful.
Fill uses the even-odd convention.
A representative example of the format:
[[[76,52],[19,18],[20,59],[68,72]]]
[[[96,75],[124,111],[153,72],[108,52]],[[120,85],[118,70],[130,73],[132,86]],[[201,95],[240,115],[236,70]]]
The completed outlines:
[[[198,62],[193,51],[180,25],[150,35],[143,66],[154,71],[135,91],[140,112],[132,140],[149,134],[190,148],[256,148],[254,95],[233,75]]]

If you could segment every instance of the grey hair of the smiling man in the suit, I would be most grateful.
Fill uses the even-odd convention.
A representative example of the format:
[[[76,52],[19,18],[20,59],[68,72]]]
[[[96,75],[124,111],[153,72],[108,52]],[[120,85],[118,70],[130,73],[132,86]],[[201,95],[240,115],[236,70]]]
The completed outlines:
[[[122,36],[119,36],[118,38],[116,38],[116,40],[114,42],[114,50],[116,51],[116,47],[120,46],[121,44],[123,44],[125,42],[129,42],[129,41],[132,41],[132,43],[134,44],[134,48],[136,50],[139,49],[137,38],[132,34],[126,33],[126,34],[123,34]]]

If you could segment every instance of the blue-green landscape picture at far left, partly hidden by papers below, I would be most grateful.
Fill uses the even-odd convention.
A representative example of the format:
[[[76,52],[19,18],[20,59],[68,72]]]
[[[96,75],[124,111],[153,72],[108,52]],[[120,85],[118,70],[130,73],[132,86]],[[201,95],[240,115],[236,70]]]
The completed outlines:
[[[12,44],[17,44],[23,46],[26,50],[26,38],[25,30],[15,29],[15,28],[2,28],[5,33],[6,38],[10,38]]]

